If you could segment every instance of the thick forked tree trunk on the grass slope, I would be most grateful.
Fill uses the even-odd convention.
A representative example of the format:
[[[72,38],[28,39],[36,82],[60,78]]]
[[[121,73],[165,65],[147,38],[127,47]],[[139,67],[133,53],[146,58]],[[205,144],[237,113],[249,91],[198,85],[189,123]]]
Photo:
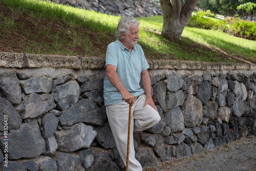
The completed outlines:
[[[177,42],[186,26],[188,19],[197,5],[198,0],[187,0],[183,5],[182,0],[160,0],[163,12],[163,37]]]

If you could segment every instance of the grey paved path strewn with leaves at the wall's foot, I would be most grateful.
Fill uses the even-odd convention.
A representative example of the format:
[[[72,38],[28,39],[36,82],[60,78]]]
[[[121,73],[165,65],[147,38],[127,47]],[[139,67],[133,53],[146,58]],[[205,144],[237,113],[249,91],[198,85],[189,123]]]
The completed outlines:
[[[219,146],[214,150],[172,161],[143,171],[169,170],[256,170],[256,136]]]

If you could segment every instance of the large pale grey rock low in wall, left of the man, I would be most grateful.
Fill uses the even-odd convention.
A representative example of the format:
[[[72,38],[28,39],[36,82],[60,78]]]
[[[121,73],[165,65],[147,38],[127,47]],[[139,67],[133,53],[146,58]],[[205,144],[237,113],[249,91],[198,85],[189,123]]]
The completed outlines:
[[[54,133],[60,152],[74,152],[82,147],[89,148],[96,137],[92,126],[77,123],[69,130],[60,130]]]

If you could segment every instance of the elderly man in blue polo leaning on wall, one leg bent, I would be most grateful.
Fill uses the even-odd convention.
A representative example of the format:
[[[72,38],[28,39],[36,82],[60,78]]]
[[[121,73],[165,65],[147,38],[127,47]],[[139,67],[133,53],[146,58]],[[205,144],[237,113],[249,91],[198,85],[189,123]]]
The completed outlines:
[[[135,159],[133,131],[143,131],[160,121],[151,96],[151,81],[144,52],[137,44],[139,20],[122,17],[116,29],[117,40],[106,51],[104,103],[110,127],[122,161],[126,164],[129,105],[132,105],[129,170],[140,171]],[[139,82],[142,80],[143,88]]]

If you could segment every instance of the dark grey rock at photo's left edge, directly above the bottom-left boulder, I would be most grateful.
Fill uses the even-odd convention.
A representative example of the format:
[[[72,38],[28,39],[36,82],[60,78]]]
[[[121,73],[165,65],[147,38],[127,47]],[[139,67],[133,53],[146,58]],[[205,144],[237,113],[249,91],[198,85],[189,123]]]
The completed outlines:
[[[22,118],[14,110],[13,105],[3,97],[0,97],[0,132],[18,129],[22,124]],[[7,133],[8,134],[8,133]]]

